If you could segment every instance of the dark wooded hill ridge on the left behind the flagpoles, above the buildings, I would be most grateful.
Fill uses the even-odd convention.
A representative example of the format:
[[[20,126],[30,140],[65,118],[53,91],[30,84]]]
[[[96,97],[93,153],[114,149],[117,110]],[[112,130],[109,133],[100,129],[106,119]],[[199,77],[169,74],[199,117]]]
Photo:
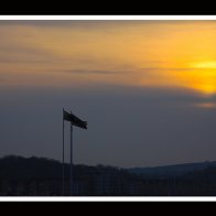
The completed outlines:
[[[112,166],[97,165],[88,166],[83,164],[73,165],[74,179],[80,180],[86,176],[97,174],[99,171],[119,170]],[[69,164],[65,163],[65,177],[69,179]],[[23,158],[8,155],[0,159],[0,180],[62,180],[62,162],[46,158]]]

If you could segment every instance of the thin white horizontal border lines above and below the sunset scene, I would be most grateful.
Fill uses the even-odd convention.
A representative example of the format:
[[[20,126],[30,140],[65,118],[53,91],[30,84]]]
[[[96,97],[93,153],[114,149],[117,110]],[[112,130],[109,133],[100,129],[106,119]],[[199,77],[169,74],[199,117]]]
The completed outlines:
[[[216,15],[0,15],[1,20],[216,20]],[[0,202],[60,202],[60,201],[73,201],[73,202],[210,202],[216,201],[216,197],[202,197],[202,196],[128,196],[128,197],[0,197]]]

